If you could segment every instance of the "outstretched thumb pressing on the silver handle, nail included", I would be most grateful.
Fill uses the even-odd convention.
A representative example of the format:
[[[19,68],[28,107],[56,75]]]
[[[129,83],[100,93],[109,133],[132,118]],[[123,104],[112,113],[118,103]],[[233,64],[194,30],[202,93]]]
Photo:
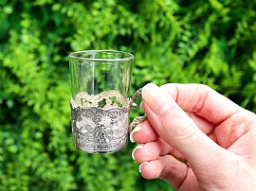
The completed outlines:
[[[193,122],[165,91],[153,83],[142,88],[142,108],[158,135],[191,165],[210,165],[221,148]],[[215,157],[214,157],[215,158]]]

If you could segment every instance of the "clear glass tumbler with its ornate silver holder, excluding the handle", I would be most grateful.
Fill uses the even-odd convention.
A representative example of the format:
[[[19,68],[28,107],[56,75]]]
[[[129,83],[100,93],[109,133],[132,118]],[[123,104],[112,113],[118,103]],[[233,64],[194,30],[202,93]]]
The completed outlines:
[[[105,153],[127,145],[133,62],[132,54],[114,50],[86,50],[69,55],[76,148]]]

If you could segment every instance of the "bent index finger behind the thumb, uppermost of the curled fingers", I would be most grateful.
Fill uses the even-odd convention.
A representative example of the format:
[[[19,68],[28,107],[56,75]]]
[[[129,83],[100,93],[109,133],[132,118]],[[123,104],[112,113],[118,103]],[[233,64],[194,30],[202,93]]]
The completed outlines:
[[[169,83],[161,86],[185,112],[196,113],[211,123],[220,124],[240,107],[207,85]]]

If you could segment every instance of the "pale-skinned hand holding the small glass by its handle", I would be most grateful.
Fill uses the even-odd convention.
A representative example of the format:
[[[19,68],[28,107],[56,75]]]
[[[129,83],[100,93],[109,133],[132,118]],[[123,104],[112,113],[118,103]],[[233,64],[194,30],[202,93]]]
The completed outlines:
[[[145,179],[176,190],[255,190],[256,115],[200,84],[147,84],[131,133]]]

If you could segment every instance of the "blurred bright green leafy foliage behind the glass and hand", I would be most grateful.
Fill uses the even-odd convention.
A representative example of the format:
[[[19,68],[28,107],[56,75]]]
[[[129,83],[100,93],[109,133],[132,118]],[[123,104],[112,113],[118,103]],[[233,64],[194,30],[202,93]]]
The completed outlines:
[[[133,144],[104,155],[74,148],[67,55],[125,50],[136,56],[131,95],[150,81],[198,82],[256,112],[255,9],[251,0],[1,0],[0,190],[172,190],[140,178]]]

